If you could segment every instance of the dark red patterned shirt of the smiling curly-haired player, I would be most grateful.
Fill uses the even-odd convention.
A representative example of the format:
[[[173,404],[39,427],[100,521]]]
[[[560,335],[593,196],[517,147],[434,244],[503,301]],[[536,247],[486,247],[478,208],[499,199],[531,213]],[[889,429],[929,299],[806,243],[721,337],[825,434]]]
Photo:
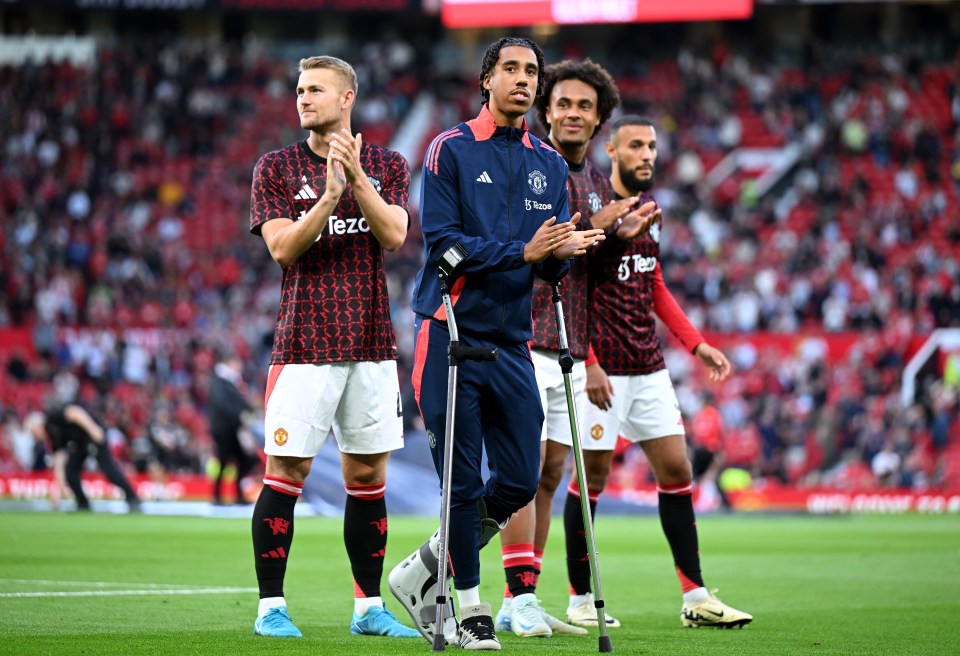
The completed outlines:
[[[567,175],[567,193],[570,197],[570,215],[580,212],[578,230],[590,230],[590,217],[616,198],[610,180],[593,162],[585,159],[581,165],[571,164]],[[563,318],[567,330],[570,354],[580,360],[587,358],[587,269],[588,253],[575,257],[570,263],[570,273],[560,285],[563,301]],[[533,287],[533,340],[535,349],[559,351],[556,312],[553,309],[552,287],[539,278]]]

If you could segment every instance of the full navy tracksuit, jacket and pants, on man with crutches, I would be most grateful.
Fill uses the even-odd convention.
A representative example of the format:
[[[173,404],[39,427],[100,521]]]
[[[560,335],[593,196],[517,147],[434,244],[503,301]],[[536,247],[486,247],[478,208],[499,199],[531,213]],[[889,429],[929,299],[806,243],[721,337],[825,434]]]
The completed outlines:
[[[463,346],[497,348],[496,362],[458,369],[450,558],[455,585],[480,581],[477,501],[503,522],[537,491],[543,409],[527,343],[534,275],[554,282],[569,263],[531,265],[523,247],[544,221],[570,220],[567,164],[523,128],[497,126],[486,106],[477,118],[437,136],[427,150],[420,196],[425,264],[417,275],[413,385],[438,474],[442,472],[450,334],[437,263],[454,244],[467,252],[451,289]],[[481,478],[483,449],[490,478]]]

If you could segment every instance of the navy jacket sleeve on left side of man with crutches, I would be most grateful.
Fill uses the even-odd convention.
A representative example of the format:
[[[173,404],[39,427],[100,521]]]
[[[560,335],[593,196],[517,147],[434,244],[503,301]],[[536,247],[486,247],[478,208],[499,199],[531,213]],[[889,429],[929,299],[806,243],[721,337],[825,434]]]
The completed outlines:
[[[459,167],[453,148],[438,144],[439,157],[435,168],[428,161],[423,167],[423,189],[420,201],[420,227],[426,244],[426,259],[436,267],[440,257],[455,244],[460,244],[467,257],[460,263],[458,274],[510,271],[528,266],[523,259],[522,241],[498,242],[463,232]],[[428,158],[430,152],[428,151]],[[493,221],[497,217],[485,217]]]

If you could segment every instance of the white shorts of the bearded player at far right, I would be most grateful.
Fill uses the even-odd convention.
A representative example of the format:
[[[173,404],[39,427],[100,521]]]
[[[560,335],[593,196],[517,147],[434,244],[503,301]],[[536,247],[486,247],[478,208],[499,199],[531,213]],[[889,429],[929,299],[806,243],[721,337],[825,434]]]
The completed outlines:
[[[669,435],[686,435],[680,403],[666,369],[646,376],[610,376],[613,407],[601,410],[587,404],[583,418],[588,444],[612,451],[617,436],[630,442],[645,442]]]

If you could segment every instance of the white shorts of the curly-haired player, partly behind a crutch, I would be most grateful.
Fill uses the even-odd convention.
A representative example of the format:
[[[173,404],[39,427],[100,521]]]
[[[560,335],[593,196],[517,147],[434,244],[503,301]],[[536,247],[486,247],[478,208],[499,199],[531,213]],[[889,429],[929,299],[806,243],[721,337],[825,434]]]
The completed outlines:
[[[540,405],[543,406],[543,431],[540,433],[540,441],[549,438],[554,442],[572,447],[567,389],[563,383],[563,370],[560,368],[558,357],[554,351],[530,351],[530,359],[533,360],[533,369],[537,375],[537,388],[540,391]],[[573,403],[581,426],[584,425],[586,385],[587,368],[582,360],[574,360],[573,369],[570,372],[570,387],[573,390]],[[583,439],[580,443],[586,447]]]

